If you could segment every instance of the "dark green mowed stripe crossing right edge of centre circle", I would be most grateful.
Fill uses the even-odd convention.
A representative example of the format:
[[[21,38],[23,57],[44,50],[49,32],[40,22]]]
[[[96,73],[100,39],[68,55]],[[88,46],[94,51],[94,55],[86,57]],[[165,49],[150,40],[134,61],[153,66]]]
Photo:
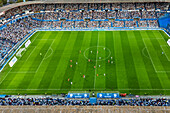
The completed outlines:
[[[113,32],[112,31],[106,31],[105,34],[106,37],[106,41],[105,41],[105,45],[107,48],[110,49],[111,51],[111,57],[113,57],[113,59],[111,60],[110,57],[109,59],[107,59],[105,61],[105,63],[107,64],[105,66],[105,70],[106,70],[106,87],[108,89],[111,90],[116,90],[117,89],[117,76],[116,76],[116,58],[115,58],[115,51],[114,51],[114,37],[113,37]],[[108,63],[108,60],[110,60],[110,63]],[[112,64],[111,61],[114,60],[114,63]]]

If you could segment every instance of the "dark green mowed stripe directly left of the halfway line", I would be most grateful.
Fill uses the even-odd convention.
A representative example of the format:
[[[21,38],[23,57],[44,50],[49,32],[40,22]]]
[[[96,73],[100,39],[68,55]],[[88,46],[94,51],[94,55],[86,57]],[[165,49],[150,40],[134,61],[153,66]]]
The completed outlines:
[[[91,31],[91,42],[90,42],[90,46],[89,47],[97,47],[97,43],[98,43],[98,31]],[[97,55],[97,49],[93,50],[93,53],[91,54],[90,52],[91,49],[89,49],[89,55],[88,57],[91,58],[91,62],[87,63],[86,66],[86,80],[84,81],[84,89],[94,89],[94,79],[95,79],[95,68],[94,66],[96,65],[96,55]]]

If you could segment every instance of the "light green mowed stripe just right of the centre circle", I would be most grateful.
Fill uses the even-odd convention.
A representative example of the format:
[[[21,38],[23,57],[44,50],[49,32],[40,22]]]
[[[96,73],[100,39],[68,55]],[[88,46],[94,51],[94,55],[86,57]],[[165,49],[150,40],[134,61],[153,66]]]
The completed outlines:
[[[114,31],[113,38],[114,38],[114,51],[115,51],[114,59],[115,59],[115,63],[116,63],[117,88],[118,89],[128,89],[129,86],[128,86],[126,68],[125,68],[125,61],[124,61],[124,57],[123,57],[120,31]],[[128,91],[126,91],[126,92],[128,93]]]

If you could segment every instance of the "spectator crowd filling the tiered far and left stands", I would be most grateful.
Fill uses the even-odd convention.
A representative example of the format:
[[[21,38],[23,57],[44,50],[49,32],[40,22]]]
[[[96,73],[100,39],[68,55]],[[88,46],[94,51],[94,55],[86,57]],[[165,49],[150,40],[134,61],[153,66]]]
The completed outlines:
[[[0,61],[34,28],[158,27],[169,3],[30,4],[12,8],[0,20],[14,20],[0,30]],[[26,13],[26,12],[29,12]],[[0,22],[0,27],[5,25]]]

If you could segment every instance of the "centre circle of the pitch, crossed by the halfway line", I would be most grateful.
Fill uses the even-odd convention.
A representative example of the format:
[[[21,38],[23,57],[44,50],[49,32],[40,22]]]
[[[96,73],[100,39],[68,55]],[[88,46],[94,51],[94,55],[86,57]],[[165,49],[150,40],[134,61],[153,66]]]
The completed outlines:
[[[109,58],[111,55],[110,49],[104,46],[92,46],[84,51],[84,57],[87,60],[102,61]]]

